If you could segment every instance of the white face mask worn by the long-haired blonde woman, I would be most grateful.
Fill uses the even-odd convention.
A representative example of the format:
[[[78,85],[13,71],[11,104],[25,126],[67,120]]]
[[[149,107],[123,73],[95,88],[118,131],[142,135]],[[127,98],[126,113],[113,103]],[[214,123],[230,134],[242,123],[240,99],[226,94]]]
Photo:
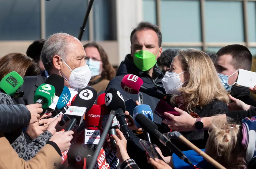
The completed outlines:
[[[162,79],[162,83],[164,85],[165,88],[165,92],[167,94],[175,94],[175,95],[179,95],[180,91],[179,88],[182,87],[182,85],[186,82],[184,81],[183,83],[181,83],[181,78],[179,75],[181,75],[182,73],[184,73],[185,71],[177,74],[174,71],[167,71],[165,72],[165,76]]]

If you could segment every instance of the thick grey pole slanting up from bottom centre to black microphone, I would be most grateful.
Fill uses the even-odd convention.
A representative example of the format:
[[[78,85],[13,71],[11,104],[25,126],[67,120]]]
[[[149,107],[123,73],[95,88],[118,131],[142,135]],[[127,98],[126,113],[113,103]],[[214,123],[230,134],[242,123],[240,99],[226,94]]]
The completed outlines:
[[[108,131],[110,129],[110,127],[112,126],[112,123],[113,123],[113,119],[115,117],[115,114],[117,113],[116,110],[111,110],[109,116],[108,116],[108,121],[105,125],[105,128],[101,134],[101,138],[100,138],[100,141],[99,141],[99,144],[97,145],[96,149],[95,149],[95,152],[91,158],[91,161],[90,161],[90,166],[88,167],[88,169],[93,169],[94,168],[94,165],[97,161],[97,158],[100,154],[100,151],[101,151],[101,147],[103,146],[105,140],[106,140],[106,137],[107,137],[107,134],[108,134]],[[87,164],[86,164],[87,166]]]

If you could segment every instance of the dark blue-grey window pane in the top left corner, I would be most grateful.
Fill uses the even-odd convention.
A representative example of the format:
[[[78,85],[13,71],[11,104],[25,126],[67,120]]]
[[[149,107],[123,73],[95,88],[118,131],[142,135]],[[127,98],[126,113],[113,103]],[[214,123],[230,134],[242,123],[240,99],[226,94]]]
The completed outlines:
[[[40,1],[0,0],[0,40],[40,39]]]

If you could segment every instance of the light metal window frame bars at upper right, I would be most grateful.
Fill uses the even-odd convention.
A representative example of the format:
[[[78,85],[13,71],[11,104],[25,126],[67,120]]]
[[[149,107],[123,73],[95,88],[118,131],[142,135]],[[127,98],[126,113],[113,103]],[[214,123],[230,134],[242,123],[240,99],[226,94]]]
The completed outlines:
[[[231,44],[244,45],[247,48],[256,47],[256,42],[249,42],[248,38],[248,18],[247,18],[247,2],[256,0],[197,0],[200,1],[200,19],[201,19],[201,42],[163,42],[162,47],[201,47],[203,51],[207,51],[208,47],[223,47]],[[244,41],[243,42],[206,42],[205,41],[205,1],[241,1],[243,2],[243,20],[244,20]],[[161,0],[155,0],[157,25],[161,30]]]

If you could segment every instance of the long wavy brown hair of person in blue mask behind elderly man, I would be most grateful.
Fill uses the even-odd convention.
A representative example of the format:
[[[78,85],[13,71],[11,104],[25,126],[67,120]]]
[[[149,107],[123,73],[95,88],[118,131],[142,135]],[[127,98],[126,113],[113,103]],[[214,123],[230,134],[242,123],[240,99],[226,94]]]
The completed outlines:
[[[102,68],[103,68],[103,70],[101,72],[101,77],[108,79],[108,80],[113,79],[115,77],[116,71],[113,68],[113,66],[109,63],[108,55],[105,52],[105,50],[102,48],[102,46],[96,42],[90,42],[90,43],[87,43],[84,45],[84,48],[87,48],[87,47],[95,47],[98,49],[98,51],[100,53],[101,61],[102,61]]]

